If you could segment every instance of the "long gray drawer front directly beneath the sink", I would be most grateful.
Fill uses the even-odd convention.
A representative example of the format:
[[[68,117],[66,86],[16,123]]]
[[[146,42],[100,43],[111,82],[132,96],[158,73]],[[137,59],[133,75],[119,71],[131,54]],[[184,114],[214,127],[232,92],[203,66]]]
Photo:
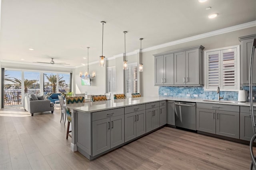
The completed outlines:
[[[239,112],[239,106],[236,106],[236,105],[196,103],[196,107],[201,109],[213,109],[213,110],[219,110],[219,111]]]

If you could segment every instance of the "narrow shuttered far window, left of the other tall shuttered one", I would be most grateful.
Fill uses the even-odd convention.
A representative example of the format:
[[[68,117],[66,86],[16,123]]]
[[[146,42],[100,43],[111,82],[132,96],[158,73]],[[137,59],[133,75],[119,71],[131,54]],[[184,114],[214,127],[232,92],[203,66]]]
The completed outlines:
[[[116,91],[116,67],[107,67],[107,93]]]

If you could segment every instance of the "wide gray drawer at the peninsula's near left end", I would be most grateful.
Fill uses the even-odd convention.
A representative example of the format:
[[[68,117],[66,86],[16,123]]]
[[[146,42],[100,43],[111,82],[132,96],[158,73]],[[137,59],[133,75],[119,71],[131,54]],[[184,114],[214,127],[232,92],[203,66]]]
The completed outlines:
[[[114,116],[118,116],[118,115],[124,115],[124,108],[93,112],[92,113],[92,121],[105,119],[105,118],[108,118],[108,117],[114,117]]]

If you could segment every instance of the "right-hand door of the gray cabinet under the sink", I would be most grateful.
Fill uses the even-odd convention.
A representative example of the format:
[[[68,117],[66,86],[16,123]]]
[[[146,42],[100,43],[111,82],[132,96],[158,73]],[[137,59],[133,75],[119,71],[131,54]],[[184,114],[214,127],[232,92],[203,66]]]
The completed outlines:
[[[216,111],[216,134],[239,139],[239,113]]]

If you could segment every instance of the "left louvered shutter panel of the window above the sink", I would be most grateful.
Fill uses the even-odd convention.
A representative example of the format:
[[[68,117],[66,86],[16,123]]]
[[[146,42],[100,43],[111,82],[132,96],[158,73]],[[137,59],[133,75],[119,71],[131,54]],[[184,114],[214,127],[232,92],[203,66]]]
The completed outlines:
[[[220,51],[206,53],[207,89],[216,89],[220,85]]]

